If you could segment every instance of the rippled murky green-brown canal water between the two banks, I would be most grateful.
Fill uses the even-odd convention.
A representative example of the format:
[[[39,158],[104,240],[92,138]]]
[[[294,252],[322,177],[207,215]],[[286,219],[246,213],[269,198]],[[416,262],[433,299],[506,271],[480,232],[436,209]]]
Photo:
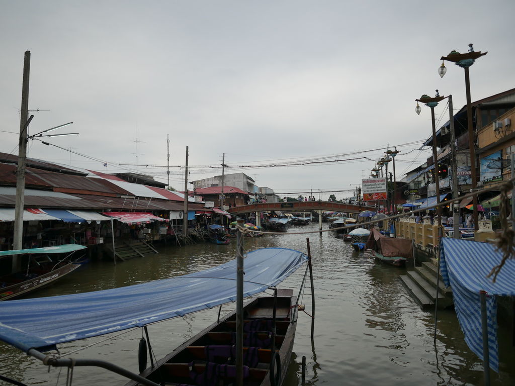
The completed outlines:
[[[324,224],[326,227],[327,224]],[[376,262],[368,253],[358,254],[332,232],[317,231],[318,224],[292,227],[288,233],[245,238],[245,249],[281,247],[306,252],[310,239],[315,282],[315,336],[311,318],[300,312],[294,357],[285,386],[297,385],[482,385],[482,362],[467,347],[455,312],[438,313],[434,343],[434,312],[422,311],[411,299],[399,276],[405,269]],[[92,262],[37,296],[94,291],[148,282],[191,273],[235,258],[231,245],[199,243],[178,248],[160,245],[159,254],[118,262]],[[279,288],[298,289],[305,272],[300,268]],[[296,291],[297,293],[297,291]],[[311,290],[301,294],[311,313]],[[222,306],[222,314],[234,309]],[[187,315],[148,327],[157,358],[216,320],[218,308]],[[138,343],[141,329],[61,345],[71,357],[113,362],[138,373]],[[505,335],[510,337],[510,335]],[[109,339],[108,339],[109,338]],[[509,339],[508,339],[509,340]],[[501,346],[503,346],[501,342]],[[91,346],[90,346],[91,345]],[[491,384],[515,384],[513,349],[501,351],[501,372],[491,373]],[[306,375],[301,380],[302,357]],[[48,369],[40,361],[0,343],[0,374],[30,385],[64,385],[66,369]],[[77,367],[73,384],[123,385],[124,378],[108,371]],[[0,381],[0,384],[2,381]],[[7,384],[7,383],[6,383]]]

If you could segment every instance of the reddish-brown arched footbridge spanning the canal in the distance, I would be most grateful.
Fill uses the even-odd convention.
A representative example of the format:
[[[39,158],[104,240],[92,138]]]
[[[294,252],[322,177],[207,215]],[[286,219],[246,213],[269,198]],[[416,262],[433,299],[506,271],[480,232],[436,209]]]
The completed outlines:
[[[256,202],[255,204],[233,206],[227,211],[233,215],[251,212],[308,212],[309,210],[330,210],[332,212],[359,213],[363,210],[375,211],[374,206],[340,204],[329,201],[290,201],[290,202]]]

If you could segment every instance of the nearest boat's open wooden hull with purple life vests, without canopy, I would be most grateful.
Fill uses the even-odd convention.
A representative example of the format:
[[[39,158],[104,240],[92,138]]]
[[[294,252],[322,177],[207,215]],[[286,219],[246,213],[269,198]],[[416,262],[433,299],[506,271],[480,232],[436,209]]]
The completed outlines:
[[[245,385],[279,386],[285,378],[297,327],[293,290],[278,290],[275,303],[273,296],[260,296],[244,307]],[[199,332],[140,376],[158,384],[233,384],[235,330],[236,311]],[[130,381],[125,386],[138,384]]]

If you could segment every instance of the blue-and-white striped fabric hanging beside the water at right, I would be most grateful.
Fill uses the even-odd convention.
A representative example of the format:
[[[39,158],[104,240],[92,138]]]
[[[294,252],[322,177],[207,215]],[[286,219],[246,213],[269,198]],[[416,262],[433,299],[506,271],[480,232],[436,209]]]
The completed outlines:
[[[470,349],[483,359],[481,305],[479,291],[487,292],[487,323],[490,368],[499,372],[497,354],[497,303],[495,295],[515,295],[515,260],[507,260],[495,283],[486,277],[500,264],[502,253],[495,245],[442,238],[440,272],[446,286],[453,290],[456,314]]]

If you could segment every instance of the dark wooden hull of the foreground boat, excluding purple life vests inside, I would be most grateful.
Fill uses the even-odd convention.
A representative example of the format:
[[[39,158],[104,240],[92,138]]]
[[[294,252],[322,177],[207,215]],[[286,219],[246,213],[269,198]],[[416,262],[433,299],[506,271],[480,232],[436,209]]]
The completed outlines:
[[[276,311],[278,335],[276,337],[276,349],[281,362],[281,373],[278,376],[279,382],[273,382],[274,386],[279,386],[283,383],[287,373],[289,361],[291,359],[291,353],[295,339],[295,330],[297,327],[296,309],[294,315],[291,315],[291,310],[294,310],[292,307],[295,307],[295,305],[296,298],[293,296],[293,290],[278,291]],[[245,329],[247,329],[248,325],[255,325],[255,323],[260,325],[269,325],[271,323],[269,321],[272,319],[272,310],[272,296],[262,296],[251,300],[244,307]],[[199,332],[199,334],[195,335],[181,346],[173,350],[173,352],[160,359],[155,364],[155,366],[148,367],[140,375],[156,383],[166,382],[166,384],[187,384],[188,381],[192,382],[192,380],[187,379],[187,377],[191,376],[192,369],[195,372],[196,366],[200,366],[201,369],[202,366],[204,366],[204,370],[201,370],[202,373],[205,371],[205,369],[208,369],[210,364],[207,363],[207,359],[204,358],[204,356],[209,355],[209,347],[214,347],[213,345],[216,345],[216,347],[226,347],[220,346],[223,344],[220,343],[222,339],[221,337],[232,336],[233,331],[235,330],[235,324],[236,312],[233,311],[226,317],[220,319],[219,322],[213,323],[211,326],[205,328]],[[250,332],[245,332],[244,341],[247,340],[249,334]],[[259,332],[259,334],[262,334],[262,332]],[[268,337],[270,337],[270,335],[268,335]],[[233,345],[232,342],[228,344]],[[249,386],[270,386],[272,384],[272,382],[270,382],[270,364],[269,362],[267,363],[266,360],[271,360],[271,350],[265,347],[260,349],[257,349],[256,347],[248,348],[244,345],[244,353],[249,353],[249,350],[254,349],[259,352],[259,365],[256,365],[255,367],[249,367],[247,371],[244,371],[244,374],[248,374],[248,377],[244,379],[244,384]],[[244,355],[244,359],[246,355],[247,354]],[[216,363],[220,363],[219,360],[222,357],[223,356],[216,356]],[[224,366],[224,360],[222,360],[220,363],[222,366]],[[227,360],[230,362],[226,367],[234,367],[234,363],[231,361],[231,358],[228,358]],[[191,363],[193,363],[193,367],[190,366]],[[228,379],[224,379],[224,381],[227,382]],[[230,379],[230,381],[233,382],[234,379]],[[138,382],[135,381],[126,383],[126,386],[136,385],[138,385]]]

